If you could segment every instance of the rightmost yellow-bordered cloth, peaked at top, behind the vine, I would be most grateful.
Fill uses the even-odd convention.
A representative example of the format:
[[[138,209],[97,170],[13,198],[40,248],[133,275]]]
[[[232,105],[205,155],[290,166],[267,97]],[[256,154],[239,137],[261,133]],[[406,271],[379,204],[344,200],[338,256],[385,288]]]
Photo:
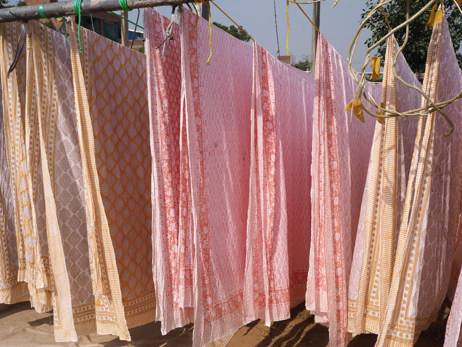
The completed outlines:
[[[461,89],[461,70],[443,16],[433,26],[423,90],[439,101]],[[427,105],[426,99],[421,105]],[[460,101],[444,107],[456,128],[462,125],[460,107]],[[413,153],[386,316],[376,346],[413,346],[436,319],[446,295],[460,214],[461,172],[460,132],[445,137],[447,131],[446,121],[436,112],[419,118],[419,145]]]

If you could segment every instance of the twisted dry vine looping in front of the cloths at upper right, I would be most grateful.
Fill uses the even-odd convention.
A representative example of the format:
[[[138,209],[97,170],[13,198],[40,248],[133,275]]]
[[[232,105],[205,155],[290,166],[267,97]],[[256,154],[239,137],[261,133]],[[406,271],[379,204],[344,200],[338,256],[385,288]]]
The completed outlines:
[[[364,19],[364,21],[359,26],[359,29],[358,29],[358,31],[356,32],[356,34],[355,34],[355,36],[353,38],[353,42],[350,45],[350,49],[348,51],[348,59],[347,59],[347,61],[348,61],[348,67],[349,67],[349,70],[350,70],[350,74],[352,75],[352,77],[354,78],[354,80],[358,84],[358,88],[357,88],[357,91],[356,91],[356,94],[355,94],[355,98],[356,98],[356,95],[363,95],[363,97],[367,101],[369,101],[369,103],[371,103],[371,105],[376,107],[377,110],[378,110],[377,113],[371,112],[371,110],[369,110],[361,100],[361,106],[364,109],[364,111],[367,112],[372,117],[380,118],[380,119],[390,118],[390,117],[399,117],[399,116],[401,116],[401,117],[426,116],[428,114],[431,114],[432,112],[438,112],[439,114],[441,114],[444,117],[444,119],[446,120],[446,122],[448,123],[448,125],[450,127],[450,131],[448,133],[444,134],[444,136],[449,136],[450,134],[452,134],[455,127],[454,127],[454,124],[452,123],[451,119],[443,112],[443,108],[445,106],[447,106],[447,105],[450,105],[452,102],[454,102],[454,101],[456,101],[458,99],[461,99],[462,98],[462,91],[452,99],[442,101],[442,102],[438,102],[438,103],[434,103],[434,102],[432,102],[430,97],[422,89],[407,83],[406,81],[404,81],[401,78],[401,76],[399,76],[396,73],[396,61],[398,59],[399,54],[401,53],[401,51],[404,49],[404,47],[407,44],[407,40],[408,40],[408,36],[409,36],[409,25],[410,25],[410,23],[412,23],[415,19],[417,19],[424,12],[426,12],[438,0],[430,0],[425,6],[423,6],[412,17],[409,16],[409,6],[410,6],[410,1],[411,0],[407,0],[406,20],[403,23],[401,23],[400,25],[396,26],[395,28],[390,28],[390,31],[389,31],[389,33],[387,35],[385,35],[384,37],[379,39],[376,43],[374,43],[371,47],[369,47],[366,50],[365,63],[361,68],[361,79],[358,79],[358,76],[357,76],[356,72],[353,70],[353,67],[352,67],[353,54],[354,54],[354,50],[356,48],[356,45],[358,43],[358,39],[359,39],[359,35],[360,35],[361,31],[364,29],[367,21],[369,19],[371,19],[371,17],[374,15],[374,13],[376,13],[381,8],[383,9],[382,6],[388,4],[391,1],[393,1],[393,0],[380,0],[379,1],[378,5],[376,7],[374,7],[371,10],[371,12],[369,12],[367,17]],[[461,10],[460,6],[457,4],[456,0],[454,0],[454,2],[456,3],[456,6],[459,9],[459,11],[462,12],[462,10]],[[387,40],[388,37],[393,35],[396,31],[399,31],[399,30],[401,30],[403,28],[406,28],[406,36],[405,36],[403,44],[401,45],[399,50],[396,52],[395,58],[393,60],[393,75],[395,76],[395,78],[398,81],[403,83],[405,86],[407,86],[409,88],[413,88],[413,89],[419,91],[419,93],[422,94],[422,96],[428,102],[428,105],[425,106],[425,107],[420,107],[420,108],[415,109],[415,110],[410,110],[410,111],[406,111],[406,112],[397,112],[395,110],[388,110],[388,109],[382,107],[382,105],[377,105],[377,102],[372,98],[371,94],[369,94],[369,92],[367,90],[364,90],[364,86],[365,86],[365,82],[366,82],[365,69],[369,65],[369,62],[371,61],[371,56],[370,56],[371,51],[374,50],[375,48],[377,48],[380,44],[382,44],[385,40]]]

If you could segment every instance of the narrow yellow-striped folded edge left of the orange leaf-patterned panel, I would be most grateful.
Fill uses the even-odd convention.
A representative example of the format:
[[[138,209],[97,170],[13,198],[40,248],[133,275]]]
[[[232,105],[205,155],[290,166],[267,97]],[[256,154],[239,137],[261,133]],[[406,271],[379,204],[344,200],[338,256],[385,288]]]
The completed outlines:
[[[79,56],[79,42],[76,32],[78,29],[76,25],[72,24],[69,26],[75,112],[77,116],[80,154],[82,156],[85,205],[88,209],[89,263],[93,294],[95,295],[97,332],[98,334],[118,335],[122,340],[130,340],[123,311],[114,248],[99,190],[91,114],[88,105],[87,90],[85,89],[88,83],[85,84],[87,81],[84,79],[81,57]],[[81,33],[86,33],[82,28],[80,30],[82,30]],[[82,35],[81,37],[84,39],[83,46],[87,48],[86,36]],[[85,63],[84,66],[88,68],[88,58],[85,55],[82,56]]]

